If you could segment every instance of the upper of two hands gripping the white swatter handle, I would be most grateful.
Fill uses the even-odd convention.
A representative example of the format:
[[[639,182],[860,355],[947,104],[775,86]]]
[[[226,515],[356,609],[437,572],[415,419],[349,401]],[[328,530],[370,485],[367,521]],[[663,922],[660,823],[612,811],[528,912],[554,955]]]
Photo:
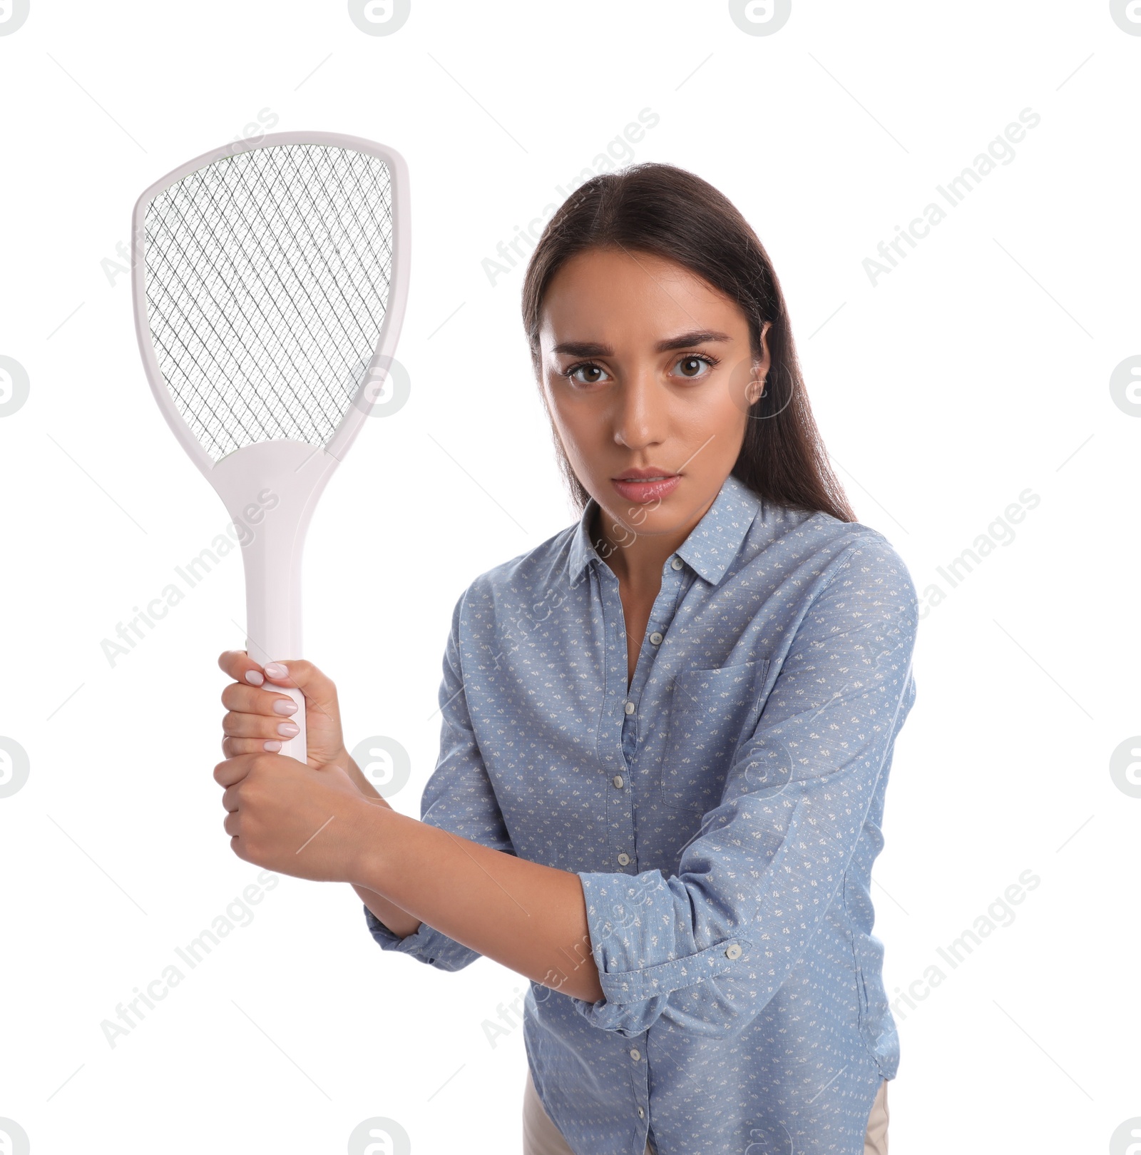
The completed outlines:
[[[350,768],[351,759],[341,732],[337,687],[312,662],[269,662],[261,666],[245,650],[226,650],[218,665],[233,678],[222,691],[222,705],[229,710],[222,720],[225,735],[222,752],[226,758],[281,751],[297,733],[296,723],[291,722],[297,703],[275,688],[296,686],[305,695],[306,761],[310,766],[336,762],[346,770]]]

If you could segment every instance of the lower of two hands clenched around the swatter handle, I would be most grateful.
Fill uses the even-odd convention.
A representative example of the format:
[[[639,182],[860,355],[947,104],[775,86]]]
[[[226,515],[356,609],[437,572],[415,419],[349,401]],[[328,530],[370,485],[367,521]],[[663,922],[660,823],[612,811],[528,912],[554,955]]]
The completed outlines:
[[[371,805],[338,766],[239,754],[214,768],[224,787],[230,848],[256,866],[321,882],[353,882]]]

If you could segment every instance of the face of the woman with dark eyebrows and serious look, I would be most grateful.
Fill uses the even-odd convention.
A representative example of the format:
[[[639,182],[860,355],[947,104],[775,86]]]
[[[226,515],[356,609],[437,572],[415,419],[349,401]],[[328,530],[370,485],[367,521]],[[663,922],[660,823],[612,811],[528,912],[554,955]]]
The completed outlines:
[[[768,325],[765,326],[768,331]],[[737,461],[769,368],[740,307],[672,261],[594,248],[551,280],[542,385],[616,544],[688,532]]]

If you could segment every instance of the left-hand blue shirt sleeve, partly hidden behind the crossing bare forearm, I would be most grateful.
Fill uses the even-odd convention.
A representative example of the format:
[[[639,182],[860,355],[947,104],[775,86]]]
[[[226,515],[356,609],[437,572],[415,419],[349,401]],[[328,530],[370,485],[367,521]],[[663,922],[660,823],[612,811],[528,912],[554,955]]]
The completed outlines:
[[[504,815],[476,743],[464,693],[461,620],[467,593],[452,613],[440,683],[440,757],[420,799],[420,820],[493,850],[514,854]],[[385,951],[395,951],[440,970],[460,970],[477,951],[422,923],[407,938],[394,934],[367,907],[365,921]]]

